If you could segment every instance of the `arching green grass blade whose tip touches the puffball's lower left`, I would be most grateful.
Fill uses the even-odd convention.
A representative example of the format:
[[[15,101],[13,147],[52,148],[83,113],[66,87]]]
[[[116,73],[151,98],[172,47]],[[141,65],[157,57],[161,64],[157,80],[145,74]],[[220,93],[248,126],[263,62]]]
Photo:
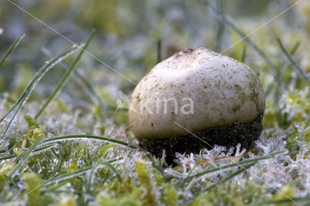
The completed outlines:
[[[140,148],[140,147],[136,147],[132,144],[117,140],[117,139],[112,139],[112,138],[108,138],[108,137],[102,137],[102,136],[95,136],[95,135],[87,135],[87,134],[74,134],[74,135],[65,135],[65,136],[58,136],[58,137],[53,137],[53,138],[49,138],[46,140],[43,140],[42,144],[46,144],[46,143],[53,143],[53,142],[59,142],[59,141],[64,141],[64,140],[78,140],[80,138],[88,138],[88,139],[93,139],[93,140],[102,140],[102,141],[107,141],[107,142],[111,142],[114,144],[119,144],[119,145],[124,145],[126,147],[130,147],[132,149],[139,149],[142,152],[145,152],[145,154],[152,159],[151,155],[148,154],[148,152],[146,152],[144,149]]]

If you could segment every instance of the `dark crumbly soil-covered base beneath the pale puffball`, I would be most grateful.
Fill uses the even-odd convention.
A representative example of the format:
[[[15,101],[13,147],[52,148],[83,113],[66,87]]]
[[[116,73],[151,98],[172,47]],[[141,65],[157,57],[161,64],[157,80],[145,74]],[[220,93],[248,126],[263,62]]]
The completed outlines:
[[[211,149],[214,145],[231,146],[241,144],[241,148],[247,150],[253,146],[263,130],[263,115],[259,115],[253,122],[241,124],[235,122],[231,127],[209,128],[205,131],[193,132],[187,136],[162,139],[144,139],[140,141],[140,147],[151,152],[156,157],[162,157],[166,152],[166,162],[171,165],[175,159],[175,153],[199,153],[202,148]],[[196,135],[196,136],[195,136]],[[202,139],[202,140],[200,140]],[[206,144],[207,143],[207,144]]]

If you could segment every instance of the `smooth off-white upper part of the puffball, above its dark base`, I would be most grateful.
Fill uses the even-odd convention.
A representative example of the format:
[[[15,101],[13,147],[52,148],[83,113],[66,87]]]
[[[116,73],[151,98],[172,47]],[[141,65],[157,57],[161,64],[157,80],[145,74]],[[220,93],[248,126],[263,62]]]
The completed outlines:
[[[135,122],[132,132],[140,140],[251,123],[265,110],[257,74],[203,47],[179,51],[158,63],[137,85],[130,103],[129,122]]]

